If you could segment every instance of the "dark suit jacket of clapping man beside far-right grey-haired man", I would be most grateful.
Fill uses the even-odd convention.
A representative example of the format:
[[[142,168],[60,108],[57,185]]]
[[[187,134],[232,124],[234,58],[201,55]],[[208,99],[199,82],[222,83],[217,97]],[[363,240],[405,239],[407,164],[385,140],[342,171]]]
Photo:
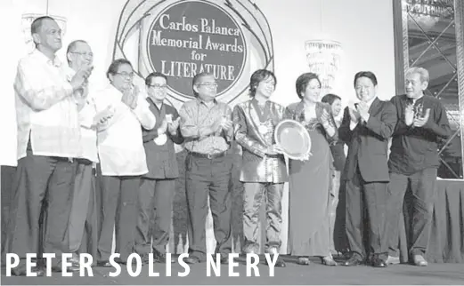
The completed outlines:
[[[346,142],[348,155],[344,168],[344,179],[353,179],[359,166],[362,179],[367,182],[387,182],[388,139],[395,131],[396,109],[389,101],[374,99],[369,108],[367,123],[358,123],[350,130],[351,118],[345,108],[343,121],[338,129],[339,139]]]

